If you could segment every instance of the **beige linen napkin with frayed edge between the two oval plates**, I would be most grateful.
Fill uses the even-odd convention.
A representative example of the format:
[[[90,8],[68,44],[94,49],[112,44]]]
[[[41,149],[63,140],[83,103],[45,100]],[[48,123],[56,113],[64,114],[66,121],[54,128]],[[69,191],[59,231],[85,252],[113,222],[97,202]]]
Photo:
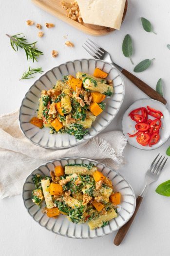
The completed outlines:
[[[19,110],[0,116],[0,199],[21,193],[29,173],[53,159],[74,156],[98,159],[114,169],[123,162],[126,138],[121,131],[98,134],[69,149],[44,149],[21,133],[18,116]]]

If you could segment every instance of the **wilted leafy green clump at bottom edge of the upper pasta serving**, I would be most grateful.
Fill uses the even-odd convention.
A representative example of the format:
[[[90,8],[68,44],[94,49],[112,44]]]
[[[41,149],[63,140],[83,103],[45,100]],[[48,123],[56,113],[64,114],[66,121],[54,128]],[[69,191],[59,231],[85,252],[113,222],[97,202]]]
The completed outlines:
[[[79,124],[72,124],[65,131],[70,135],[74,135],[77,140],[82,140],[83,136],[88,133],[88,129]]]

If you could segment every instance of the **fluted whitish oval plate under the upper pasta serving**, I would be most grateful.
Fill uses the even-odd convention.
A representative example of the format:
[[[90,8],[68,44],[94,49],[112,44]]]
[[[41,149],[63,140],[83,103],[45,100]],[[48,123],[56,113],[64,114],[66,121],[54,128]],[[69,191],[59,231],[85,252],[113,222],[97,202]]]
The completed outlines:
[[[53,87],[57,80],[62,79],[63,75],[72,74],[75,76],[77,71],[93,74],[95,67],[99,67],[109,73],[108,79],[113,79],[114,94],[112,97],[106,98],[105,110],[96,118],[92,127],[88,129],[88,134],[82,140],[76,140],[75,136],[67,133],[50,134],[48,128],[39,129],[29,123],[31,118],[37,115],[36,109],[38,108],[41,90],[48,90]],[[124,91],[123,78],[112,64],[94,59],[82,59],[61,64],[43,74],[26,93],[19,109],[20,129],[37,146],[48,149],[73,147],[91,139],[111,123],[123,103]]]

